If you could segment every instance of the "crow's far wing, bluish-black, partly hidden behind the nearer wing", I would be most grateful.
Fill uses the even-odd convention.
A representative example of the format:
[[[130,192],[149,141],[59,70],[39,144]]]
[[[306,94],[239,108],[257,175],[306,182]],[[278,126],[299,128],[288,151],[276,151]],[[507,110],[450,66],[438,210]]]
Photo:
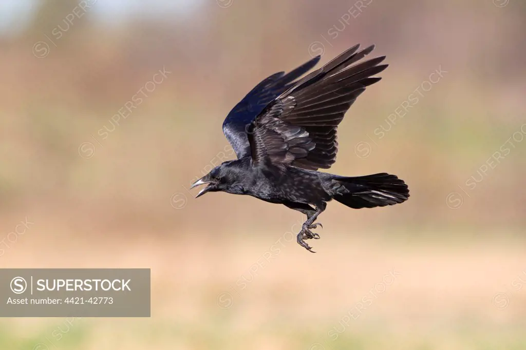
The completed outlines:
[[[316,56],[290,73],[272,74],[261,81],[234,107],[223,122],[223,132],[236,152],[237,158],[250,155],[248,126],[257,115],[276,97],[296,85],[296,79],[314,67],[320,56]]]

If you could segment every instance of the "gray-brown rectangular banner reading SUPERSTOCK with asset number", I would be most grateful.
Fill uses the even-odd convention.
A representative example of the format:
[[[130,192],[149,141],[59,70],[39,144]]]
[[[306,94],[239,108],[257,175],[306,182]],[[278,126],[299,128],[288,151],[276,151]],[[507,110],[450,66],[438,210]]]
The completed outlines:
[[[0,317],[150,317],[150,269],[0,269]]]

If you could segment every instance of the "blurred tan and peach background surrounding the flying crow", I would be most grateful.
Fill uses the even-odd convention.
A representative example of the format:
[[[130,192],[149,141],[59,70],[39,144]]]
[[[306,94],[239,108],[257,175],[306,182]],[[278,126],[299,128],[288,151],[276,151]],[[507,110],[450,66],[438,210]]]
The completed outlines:
[[[4,0],[0,266],[150,267],[151,318],[0,321],[18,349],[526,348],[526,3]],[[411,198],[296,211],[189,185],[261,79],[387,55],[330,172]]]

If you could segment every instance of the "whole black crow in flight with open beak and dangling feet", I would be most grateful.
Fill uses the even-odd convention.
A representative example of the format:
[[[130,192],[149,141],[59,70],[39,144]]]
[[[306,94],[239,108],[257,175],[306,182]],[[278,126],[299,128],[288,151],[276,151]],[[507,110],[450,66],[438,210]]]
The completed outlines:
[[[395,175],[343,177],[316,171],[336,161],[336,130],[343,115],[367,86],[381,79],[374,75],[387,67],[380,64],[385,56],[357,63],[375,47],[358,51],[359,46],[301,79],[320,56],[288,74],[273,74],[252,89],[223,122],[237,159],[197,180],[190,188],[207,186],[196,198],[223,191],[298,210],[307,221],[297,241],[311,252],[304,240],[319,238],[311,230],[321,227],[315,221],[328,201],[359,209],[407,200],[408,187]]]

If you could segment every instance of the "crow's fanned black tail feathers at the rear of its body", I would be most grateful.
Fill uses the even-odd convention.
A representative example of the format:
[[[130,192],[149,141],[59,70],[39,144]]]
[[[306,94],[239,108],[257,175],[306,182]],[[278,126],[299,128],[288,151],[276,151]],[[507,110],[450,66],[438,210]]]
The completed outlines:
[[[350,208],[385,207],[409,198],[407,184],[396,175],[385,172],[360,177],[336,177],[334,180],[341,187],[332,198]]]

